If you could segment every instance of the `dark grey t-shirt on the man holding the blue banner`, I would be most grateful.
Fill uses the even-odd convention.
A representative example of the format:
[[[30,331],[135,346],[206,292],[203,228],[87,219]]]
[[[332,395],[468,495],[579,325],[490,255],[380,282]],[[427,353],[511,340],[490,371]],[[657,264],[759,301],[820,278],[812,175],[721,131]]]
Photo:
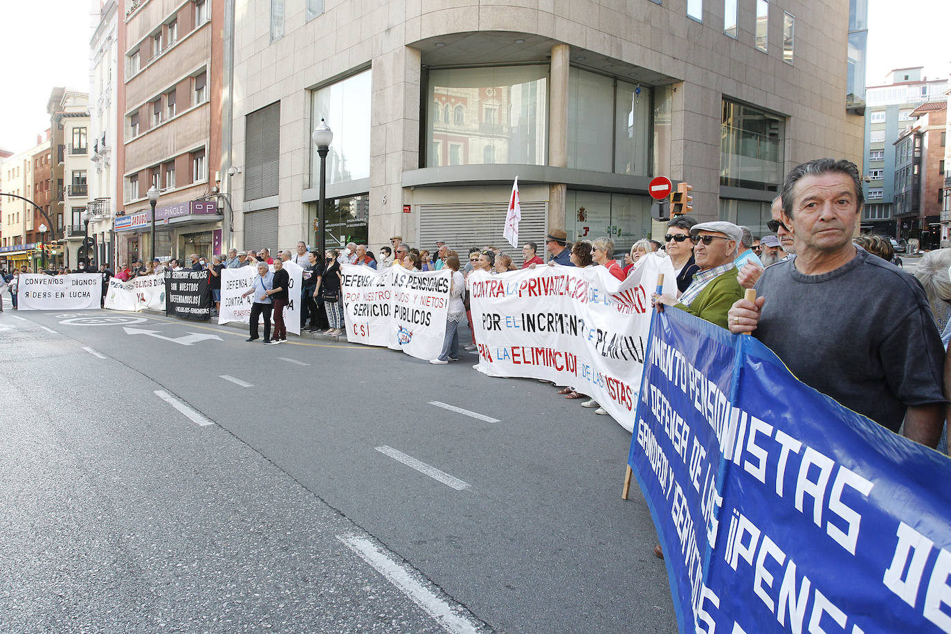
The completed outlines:
[[[892,432],[908,406],[944,402],[944,349],[917,279],[861,248],[822,275],[795,261],[756,284],[767,301],[753,332],[793,375]]]

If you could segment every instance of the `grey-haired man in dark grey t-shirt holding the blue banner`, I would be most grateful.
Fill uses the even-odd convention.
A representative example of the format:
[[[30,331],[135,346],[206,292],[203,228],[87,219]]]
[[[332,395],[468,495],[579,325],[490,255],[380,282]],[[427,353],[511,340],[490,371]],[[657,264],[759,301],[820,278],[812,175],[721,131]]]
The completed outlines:
[[[862,214],[853,163],[795,167],[783,187],[796,256],[767,268],[755,303],[729,330],[752,333],[801,381],[892,432],[929,447],[944,419],[941,337],[921,284],[852,244]]]

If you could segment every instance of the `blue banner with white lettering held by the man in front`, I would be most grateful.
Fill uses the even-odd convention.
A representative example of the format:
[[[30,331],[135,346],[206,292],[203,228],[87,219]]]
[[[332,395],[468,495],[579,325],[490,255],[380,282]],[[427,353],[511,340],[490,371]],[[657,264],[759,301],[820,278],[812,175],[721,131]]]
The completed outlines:
[[[682,633],[951,632],[951,460],[755,338],[655,314],[628,464]]]

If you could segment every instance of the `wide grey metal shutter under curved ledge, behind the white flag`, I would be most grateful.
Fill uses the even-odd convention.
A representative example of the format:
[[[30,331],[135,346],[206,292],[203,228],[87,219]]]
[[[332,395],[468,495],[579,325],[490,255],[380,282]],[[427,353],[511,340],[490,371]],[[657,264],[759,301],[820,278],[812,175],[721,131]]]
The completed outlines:
[[[545,257],[545,232],[548,227],[548,202],[522,202],[522,220],[518,223],[518,246],[513,248],[502,237],[508,201],[460,202],[457,204],[418,205],[419,243],[417,249],[431,253],[436,241],[442,240],[455,249],[465,264],[469,247],[495,246],[510,256],[515,266],[522,265],[522,244],[534,242],[538,255]]]

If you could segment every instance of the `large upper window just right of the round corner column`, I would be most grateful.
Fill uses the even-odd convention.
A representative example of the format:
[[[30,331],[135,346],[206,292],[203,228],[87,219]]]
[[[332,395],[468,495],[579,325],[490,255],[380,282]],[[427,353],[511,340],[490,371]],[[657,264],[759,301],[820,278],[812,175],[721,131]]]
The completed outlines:
[[[568,166],[650,175],[650,107],[650,88],[572,67],[568,75]],[[614,116],[600,114],[606,112]]]

